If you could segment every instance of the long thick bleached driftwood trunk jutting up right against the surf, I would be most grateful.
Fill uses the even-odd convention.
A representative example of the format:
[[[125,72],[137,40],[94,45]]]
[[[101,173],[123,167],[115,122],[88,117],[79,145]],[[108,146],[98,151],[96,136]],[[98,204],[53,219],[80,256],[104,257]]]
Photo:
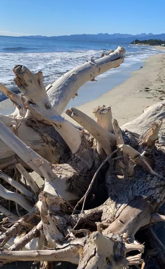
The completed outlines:
[[[87,81],[111,68],[116,68],[124,61],[125,50],[118,47],[110,55],[84,64],[67,72],[47,88],[47,94],[52,106],[61,114],[70,99],[75,96],[78,89]]]

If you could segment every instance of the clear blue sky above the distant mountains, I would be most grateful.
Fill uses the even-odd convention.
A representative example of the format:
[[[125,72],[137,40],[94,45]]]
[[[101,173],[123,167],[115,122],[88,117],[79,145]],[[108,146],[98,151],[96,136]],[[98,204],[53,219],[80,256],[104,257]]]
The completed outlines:
[[[165,33],[165,0],[1,0],[0,35]]]

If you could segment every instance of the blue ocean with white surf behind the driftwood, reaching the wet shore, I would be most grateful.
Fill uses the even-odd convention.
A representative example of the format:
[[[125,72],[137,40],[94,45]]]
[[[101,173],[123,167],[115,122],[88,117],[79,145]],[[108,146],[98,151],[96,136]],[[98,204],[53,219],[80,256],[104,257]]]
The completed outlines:
[[[109,77],[110,85],[108,88],[101,89],[99,92],[91,92],[88,97],[80,89],[80,98],[77,98],[74,102],[74,106],[77,106],[98,98],[106,91],[120,84],[130,76],[132,71],[141,66],[144,58],[152,54],[161,53],[161,51],[157,51],[153,47],[127,44],[0,36],[0,82],[17,92],[18,88],[13,81],[14,74],[12,69],[15,65],[21,64],[27,66],[32,72],[42,71],[46,86],[57,80],[65,72],[90,60],[91,56],[97,59],[101,53],[116,49],[119,45],[126,49],[124,63],[120,67],[111,69],[96,78],[96,80],[100,81],[105,76]],[[0,92],[0,101],[4,98],[6,97]],[[72,102],[70,105],[72,105]]]

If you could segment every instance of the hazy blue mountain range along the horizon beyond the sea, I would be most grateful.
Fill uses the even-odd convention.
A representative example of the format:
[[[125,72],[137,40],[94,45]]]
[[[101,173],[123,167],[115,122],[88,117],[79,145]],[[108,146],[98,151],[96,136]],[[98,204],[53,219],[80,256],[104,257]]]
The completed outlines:
[[[66,40],[66,41],[83,41],[83,42],[109,42],[109,43],[122,43],[130,44],[133,40],[144,40],[144,39],[161,39],[165,40],[165,33],[154,35],[153,33],[141,33],[137,35],[130,34],[108,34],[98,33],[94,34],[81,34],[81,35],[70,35],[70,36],[20,36],[26,38],[40,38],[40,39],[53,39],[53,40]]]

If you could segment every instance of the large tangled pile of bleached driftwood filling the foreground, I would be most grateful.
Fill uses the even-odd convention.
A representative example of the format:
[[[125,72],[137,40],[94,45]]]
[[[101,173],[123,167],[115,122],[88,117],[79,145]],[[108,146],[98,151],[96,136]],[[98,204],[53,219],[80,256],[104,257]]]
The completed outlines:
[[[60,115],[83,83],[118,67],[124,54],[119,47],[91,59],[47,91],[42,73],[21,65],[13,69],[21,97],[0,84],[17,106],[12,115],[0,116],[0,195],[24,208],[18,219],[0,206],[7,217],[1,223],[1,265],[40,261],[48,268],[49,262],[68,261],[78,269],[141,268],[147,242],[138,243],[137,232],[165,221],[158,214],[165,199],[165,146],[158,143],[164,102],[121,129],[106,106],[94,109],[96,120],[67,110],[82,128]],[[29,175],[33,170],[44,189]]]

